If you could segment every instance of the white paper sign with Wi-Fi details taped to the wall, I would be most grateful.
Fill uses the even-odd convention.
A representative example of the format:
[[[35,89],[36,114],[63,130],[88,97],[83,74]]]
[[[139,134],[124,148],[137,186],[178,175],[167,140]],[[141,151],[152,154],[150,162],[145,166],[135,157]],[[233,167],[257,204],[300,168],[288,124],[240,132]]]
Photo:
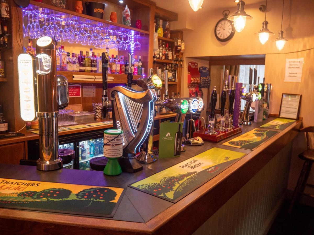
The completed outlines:
[[[284,81],[301,82],[304,58],[286,59]]]

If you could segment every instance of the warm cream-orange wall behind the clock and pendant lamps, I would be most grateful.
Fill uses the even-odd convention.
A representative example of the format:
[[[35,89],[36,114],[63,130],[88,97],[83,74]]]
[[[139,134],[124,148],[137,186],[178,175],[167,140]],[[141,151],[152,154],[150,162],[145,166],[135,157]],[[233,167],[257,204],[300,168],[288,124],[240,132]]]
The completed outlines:
[[[314,1],[300,0],[292,1],[286,0],[284,6],[284,20],[283,31],[284,37],[288,39],[282,51],[278,51],[273,40],[278,36],[281,24],[282,1],[272,0],[268,1],[267,20],[269,22],[268,28],[275,33],[265,45],[262,45],[258,36],[255,35],[257,31],[262,28],[264,20],[264,13],[258,10],[260,4],[265,4],[261,1],[257,4],[250,4],[247,0],[245,10],[246,13],[252,15],[253,19],[246,22],[246,27],[241,33],[225,43],[219,42],[214,35],[214,27],[217,21],[222,18],[222,11],[215,10],[214,12],[205,12],[206,9],[199,10],[192,13],[189,18],[194,22],[195,26],[190,27],[193,30],[184,31],[184,40],[186,43],[186,57],[198,56],[221,56],[221,55],[251,55],[251,54],[266,54],[265,60],[265,78],[267,83],[273,84],[271,94],[271,113],[279,113],[280,99],[282,93],[302,94],[302,103],[300,116],[303,117],[303,125],[314,125],[313,116],[314,109],[310,105],[313,102],[312,91],[314,90]],[[229,9],[230,12],[236,11],[236,6]],[[203,11],[203,12],[202,12]],[[307,50],[311,49],[311,50]],[[295,52],[301,51],[302,52]],[[295,53],[291,53],[295,52]],[[303,76],[301,83],[284,82],[285,60],[288,58],[304,58]],[[185,60],[185,67],[188,61]],[[187,81],[187,69],[184,69],[183,84]],[[182,88],[183,89],[183,88]],[[184,89],[183,95],[187,95],[187,89]],[[304,143],[303,136],[297,138],[295,145],[302,146]],[[302,149],[298,149],[299,152]],[[298,159],[297,153],[292,156],[290,171],[289,189],[294,189],[298,174],[300,173],[303,161]],[[311,172],[310,178],[313,177],[314,172]],[[310,180],[309,180],[310,181]],[[311,182],[313,183],[313,182]]]

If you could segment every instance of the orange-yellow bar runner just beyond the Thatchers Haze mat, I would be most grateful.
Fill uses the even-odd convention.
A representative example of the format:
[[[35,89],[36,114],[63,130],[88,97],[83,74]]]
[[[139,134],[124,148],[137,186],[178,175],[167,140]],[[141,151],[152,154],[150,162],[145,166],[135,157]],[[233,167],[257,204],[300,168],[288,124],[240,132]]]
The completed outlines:
[[[268,139],[272,138],[277,131],[270,131],[265,129],[253,129],[236,138],[233,138],[222,145],[231,146],[235,148],[253,150],[263,144]]]

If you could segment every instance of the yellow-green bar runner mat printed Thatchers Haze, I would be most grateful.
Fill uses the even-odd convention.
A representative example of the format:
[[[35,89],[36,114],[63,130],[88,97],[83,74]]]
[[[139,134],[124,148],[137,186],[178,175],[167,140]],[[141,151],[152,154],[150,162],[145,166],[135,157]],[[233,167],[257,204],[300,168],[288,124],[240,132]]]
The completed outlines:
[[[212,148],[128,186],[175,203],[244,155],[246,154]]]

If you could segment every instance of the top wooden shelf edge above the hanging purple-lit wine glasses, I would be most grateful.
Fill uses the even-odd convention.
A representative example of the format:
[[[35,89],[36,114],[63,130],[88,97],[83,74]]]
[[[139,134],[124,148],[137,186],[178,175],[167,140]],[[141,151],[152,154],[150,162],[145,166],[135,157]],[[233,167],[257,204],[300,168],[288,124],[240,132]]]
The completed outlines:
[[[148,34],[149,35],[149,31],[146,31],[146,30],[136,29],[136,28],[133,28],[133,27],[130,27],[130,26],[126,26],[124,24],[114,23],[114,22],[109,21],[109,20],[104,20],[104,19],[93,17],[93,16],[85,15],[85,14],[82,14],[82,13],[77,13],[75,11],[70,11],[70,10],[67,10],[67,9],[58,8],[58,7],[55,7],[55,6],[52,6],[52,5],[49,5],[49,4],[45,4],[45,3],[39,3],[39,2],[36,2],[34,0],[30,0],[30,4],[38,6],[40,8],[48,8],[48,9],[51,9],[53,11],[69,14],[71,16],[78,16],[78,17],[82,17],[82,18],[85,18],[85,19],[95,20],[97,22],[101,22],[101,23],[104,23],[104,24],[109,24],[109,25],[113,25],[113,26],[116,26],[116,27],[120,27],[120,28],[124,28],[124,29],[128,29],[128,30],[133,30],[133,31],[136,31],[136,32],[140,32],[140,33],[144,33],[144,34]],[[68,18],[71,18],[71,16],[68,16]]]

